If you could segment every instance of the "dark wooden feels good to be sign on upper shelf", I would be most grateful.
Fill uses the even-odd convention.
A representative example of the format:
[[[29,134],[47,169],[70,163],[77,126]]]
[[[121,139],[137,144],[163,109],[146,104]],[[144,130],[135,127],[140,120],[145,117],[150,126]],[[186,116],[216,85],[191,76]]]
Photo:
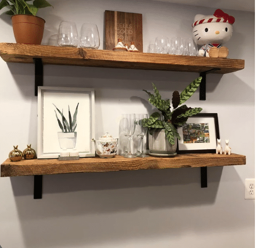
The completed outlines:
[[[105,11],[105,49],[113,50],[118,39],[128,47],[134,42],[135,47],[143,52],[142,14]]]

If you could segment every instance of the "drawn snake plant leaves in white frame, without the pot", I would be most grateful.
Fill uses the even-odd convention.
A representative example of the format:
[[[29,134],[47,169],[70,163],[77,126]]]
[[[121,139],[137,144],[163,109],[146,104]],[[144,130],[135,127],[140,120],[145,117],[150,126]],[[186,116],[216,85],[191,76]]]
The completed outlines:
[[[52,103],[53,104],[53,103]],[[53,104],[54,105],[54,104]],[[58,115],[57,115],[57,112],[56,110],[54,109],[55,111],[55,115],[56,115],[56,118],[57,118],[57,121],[58,121],[58,124],[59,124],[59,127],[61,129],[61,131],[63,133],[71,133],[71,132],[75,132],[76,130],[76,126],[77,126],[77,109],[78,109],[78,105],[79,105],[79,102],[77,103],[77,106],[76,106],[76,110],[75,110],[75,113],[73,115],[73,119],[71,117],[71,113],[70,113],[70,109],[69,109],[69,106],[68,106],[68,121],[67,121],[67,118],[65,118],[65,116],[63,115],[63,109],[62,109],[62,112],[54,105],[54,107],[57,109],[58,113],[60,114],[61,116],[61,120],[62,122],[60,121],[60,119],[58,118]]]

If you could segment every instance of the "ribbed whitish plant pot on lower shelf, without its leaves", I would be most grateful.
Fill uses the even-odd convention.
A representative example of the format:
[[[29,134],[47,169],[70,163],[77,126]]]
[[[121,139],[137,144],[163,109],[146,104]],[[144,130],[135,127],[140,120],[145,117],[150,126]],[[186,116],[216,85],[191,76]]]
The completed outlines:
[[[166,139],[164,129],[154,132],[153,135],[148,135],[148,146],[150,155],[175,156],[177,154],[177,139],[175,139],[174,145],[171,145]]]

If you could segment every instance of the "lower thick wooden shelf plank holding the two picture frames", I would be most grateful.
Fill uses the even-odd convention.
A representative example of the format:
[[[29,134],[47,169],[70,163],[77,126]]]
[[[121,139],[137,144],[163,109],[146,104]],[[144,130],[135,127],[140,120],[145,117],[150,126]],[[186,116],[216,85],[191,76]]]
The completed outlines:
[[[124,158],[117,155],[114,158],[90,157],[80,158],[77,161],[22,159],[19,162],[11,162],[10,159],[7,159],[1,165],[1,177],[244,164],[246,164],[246,157],[238,154],[179,154],[170,158],[152,156],[148,158]]]

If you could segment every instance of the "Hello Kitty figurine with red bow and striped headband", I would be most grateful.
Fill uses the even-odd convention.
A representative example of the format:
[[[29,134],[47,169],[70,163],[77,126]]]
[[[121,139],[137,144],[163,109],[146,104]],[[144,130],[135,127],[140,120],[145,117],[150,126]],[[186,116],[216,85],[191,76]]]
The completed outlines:
[[[198,56],[227,58],[228,49],[222,44],[231,38],[234,22],[234,17],[220,9],[215,10],[213,15],[197,14],[192,27],[195,43],[202,46]]]

